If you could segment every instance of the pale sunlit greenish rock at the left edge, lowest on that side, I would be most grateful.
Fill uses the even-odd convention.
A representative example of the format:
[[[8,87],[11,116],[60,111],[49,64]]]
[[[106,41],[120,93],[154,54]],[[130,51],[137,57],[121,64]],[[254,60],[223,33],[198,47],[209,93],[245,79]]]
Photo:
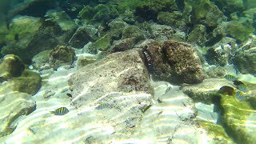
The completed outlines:
[[[6,89],[10,89],[10,87],[6,87]],[[0,137],[3,137],[14,132],[16,129],[14,122],[18,118],[28,115],[36,109],[36,102],[31,98],[30,94],[26,93],[15,91],[2,94],[2,91],[0,91],[0,94],[2,109],[0,113]]]

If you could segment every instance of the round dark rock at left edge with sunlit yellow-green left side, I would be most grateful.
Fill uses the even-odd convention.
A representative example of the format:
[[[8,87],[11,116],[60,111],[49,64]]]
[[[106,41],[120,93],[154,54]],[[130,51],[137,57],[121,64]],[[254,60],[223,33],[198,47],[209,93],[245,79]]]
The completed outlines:
[[[25,69],[21,59],[14,54],[8,54],[3,58],[0,64],[0,79],[6,80],[9,78],[18,77]]]

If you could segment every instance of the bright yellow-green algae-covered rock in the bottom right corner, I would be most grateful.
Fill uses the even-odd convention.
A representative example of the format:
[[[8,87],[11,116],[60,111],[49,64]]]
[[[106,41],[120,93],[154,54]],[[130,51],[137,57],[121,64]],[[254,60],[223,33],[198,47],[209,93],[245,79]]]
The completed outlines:
[[[220,94],[221,121],[226,132],[237,143],[254,143],[256,138],[246,132],[246,120],[255,113],[248,102]]]

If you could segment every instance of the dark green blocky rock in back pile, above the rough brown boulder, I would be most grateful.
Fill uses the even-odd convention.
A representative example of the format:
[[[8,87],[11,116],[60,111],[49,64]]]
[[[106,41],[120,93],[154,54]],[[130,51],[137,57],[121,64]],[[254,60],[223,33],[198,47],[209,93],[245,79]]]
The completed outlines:
[[[158,13],[158,22],[173,26],[180,30],[186,30],[187,25],[190,24],[190,15],[189,14],[182,14],[179,11],[174,12],[159,12]]]

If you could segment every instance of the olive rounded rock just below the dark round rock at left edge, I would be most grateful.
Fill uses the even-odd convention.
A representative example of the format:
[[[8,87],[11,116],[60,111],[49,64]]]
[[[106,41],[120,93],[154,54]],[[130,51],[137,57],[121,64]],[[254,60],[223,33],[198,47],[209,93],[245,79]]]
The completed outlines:
[[[14,91],[31,95],[36,94],[42,86],[40,75],[31,70],[24,70],[20,77],[13,78],[12,81],[14,82]]]

